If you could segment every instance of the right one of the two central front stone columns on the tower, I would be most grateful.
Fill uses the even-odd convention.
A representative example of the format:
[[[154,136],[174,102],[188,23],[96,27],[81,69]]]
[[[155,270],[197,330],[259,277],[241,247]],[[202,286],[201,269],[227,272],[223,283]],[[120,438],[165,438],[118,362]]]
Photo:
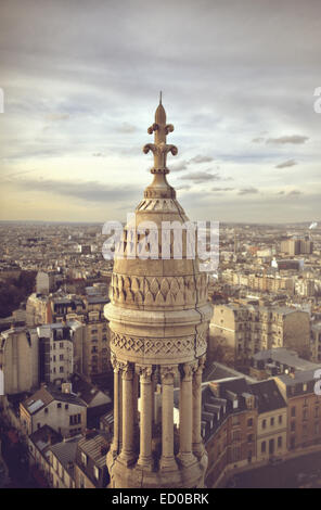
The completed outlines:
[[[160,469],[177,469],[174,457],[174,378],[177,365],[160,367],[162,377],[162,457]]]

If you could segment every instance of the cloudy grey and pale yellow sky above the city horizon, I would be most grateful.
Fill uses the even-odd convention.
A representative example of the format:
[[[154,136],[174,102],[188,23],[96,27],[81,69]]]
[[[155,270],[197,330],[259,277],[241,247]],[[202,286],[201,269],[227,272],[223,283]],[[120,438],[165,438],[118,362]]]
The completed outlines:
[[[191,219],[321,219],[320,0],[1,0],[0,219],[125,220],[152,176]]]

